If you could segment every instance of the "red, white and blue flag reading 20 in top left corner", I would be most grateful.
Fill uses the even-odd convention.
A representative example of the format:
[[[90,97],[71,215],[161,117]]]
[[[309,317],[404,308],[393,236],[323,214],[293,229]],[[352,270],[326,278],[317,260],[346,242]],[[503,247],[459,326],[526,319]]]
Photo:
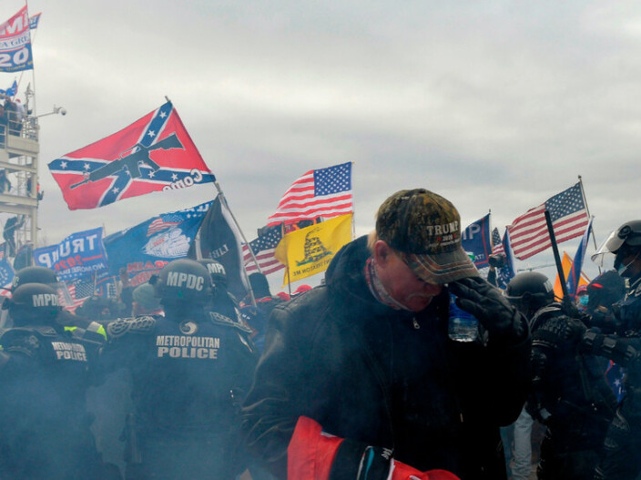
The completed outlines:
[[[0,24],[0,72],[20,72],[34,67],[31,29],[26,5]]]

